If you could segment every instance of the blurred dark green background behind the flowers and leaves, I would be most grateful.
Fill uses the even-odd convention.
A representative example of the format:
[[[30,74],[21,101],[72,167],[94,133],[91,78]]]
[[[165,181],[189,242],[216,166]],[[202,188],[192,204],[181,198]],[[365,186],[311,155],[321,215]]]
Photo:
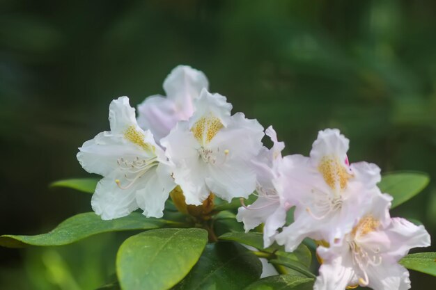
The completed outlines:
[[[308,154],[338,127],[350,161],[421,170],[392,212],[436,239],[436,2],[0,0],[0,234],[37,234],[90,211],[49,182],[88,177],[77,147],[109,129],[111,99],[163,93],[179,64]],[[0,289],[95,289],[125,234],[59,248],[0,248]],[[435,247],[433,246],[433,250]],[[413,289],[435,278],[411,273]]]

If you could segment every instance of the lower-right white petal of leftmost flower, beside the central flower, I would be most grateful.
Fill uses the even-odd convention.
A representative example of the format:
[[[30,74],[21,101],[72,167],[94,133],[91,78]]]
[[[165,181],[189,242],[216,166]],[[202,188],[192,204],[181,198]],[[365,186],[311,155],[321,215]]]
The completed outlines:
[[[170,191],[176,187],[168,166],[160,163],[156,170],[150,170],[141,177],[137,191],[137,204],[146,217],[162,218],[165,201]]]

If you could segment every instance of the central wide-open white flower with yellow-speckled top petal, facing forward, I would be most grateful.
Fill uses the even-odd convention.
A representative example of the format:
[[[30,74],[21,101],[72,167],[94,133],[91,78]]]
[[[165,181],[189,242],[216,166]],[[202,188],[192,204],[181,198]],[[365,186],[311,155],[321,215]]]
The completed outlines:
[[[226,97],[205,89],[194,106],[194,115],[161,140],[187,204],[200,205],[210,193],[247,198],[256,188],[250,161],[262,148],[263,127],[243,113],[231,115]]]

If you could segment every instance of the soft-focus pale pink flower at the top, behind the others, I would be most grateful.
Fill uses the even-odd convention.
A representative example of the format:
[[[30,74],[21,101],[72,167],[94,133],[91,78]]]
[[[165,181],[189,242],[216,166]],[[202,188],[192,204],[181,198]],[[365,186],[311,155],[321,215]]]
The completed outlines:
[[[138,106],[138,124],[149,129],[155,140],[169,134],[180,120],[188,120],[194,113],[194,99],[201,90],[209,88],[205,74],[187,65],[178,65],[166,77],[166,97],[153,95]]]

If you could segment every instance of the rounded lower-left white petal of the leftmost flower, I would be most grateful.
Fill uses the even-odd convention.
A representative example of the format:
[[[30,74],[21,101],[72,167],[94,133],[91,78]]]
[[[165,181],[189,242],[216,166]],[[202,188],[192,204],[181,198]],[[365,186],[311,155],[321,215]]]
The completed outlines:
[[[120,189],[116,175],[109,175],[98,182],[91,199],[91,206],[103,220],[111,220],[128,216],[138,208],[135,200],[136,187]]]

